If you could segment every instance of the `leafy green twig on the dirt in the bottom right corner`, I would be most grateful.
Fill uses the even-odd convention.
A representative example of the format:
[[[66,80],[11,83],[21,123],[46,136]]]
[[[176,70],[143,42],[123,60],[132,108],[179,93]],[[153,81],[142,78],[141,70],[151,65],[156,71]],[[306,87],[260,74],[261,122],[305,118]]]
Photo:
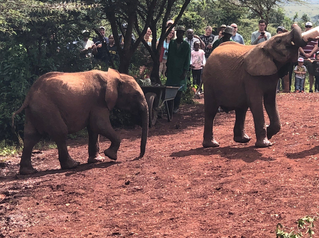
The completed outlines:
[[[300,238],[300,237],[312,238],[313,235],[315,234],[314,222],[318,218],[319,218],[318,216],[313,216],[313,215],[306,215],[300,218],[297,222],[298,231],[294,230],[293,228],[285,227],[281,223],[278,223],[276,228],[276,238]],[[288,232],[286,230],[288,230]],[[302,232],[304,234],[302,234]]]

